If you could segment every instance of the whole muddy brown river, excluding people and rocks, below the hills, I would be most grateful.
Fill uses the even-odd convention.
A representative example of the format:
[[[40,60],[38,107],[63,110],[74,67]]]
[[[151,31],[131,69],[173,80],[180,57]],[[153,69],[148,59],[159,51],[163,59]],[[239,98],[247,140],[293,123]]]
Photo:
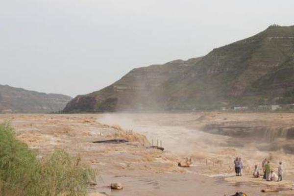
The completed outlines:
[[[80,153],[84,163],[98,170],[98,185],[90,191],[110,196],[223,196],[237,191],[248,196],[293,195],[292,191],[261,193],[261,189],[292,187],[294,155],[268,146],[292,143],[292,138],[286,136],[294,127],[293,119],[294,115],[287,113],[0,115],[0,122],[9,120],[18,138],[38,149],[40,157],[54,148],[64,148],[73,155]],[[204,127],[210,124],[226,129],[206,131]],[[278,137],[281,129],[286,130],[282,134],[285,138]],[[253,139],[240,137],[243,130],[253,135],[255,130],[274,133],[270,132],[268,141],[261,133]],[[231,131],[237,137],[230,135]],[[161,144],[164,152],[147,148],[140,134],[153,145]],[[92,143],[114,137],[131,142]],[[233,169],[237,156],[244,161],[242,177],[236,177]],[[186,157],[192,157],[192,166],[179,168],[177,162]],[[266,157],[274,171],[277,163],[283,162],[284,181],[252,178],[254,165],[261,165]],[[123,190],[111,190],[111,182],[123,183]]]

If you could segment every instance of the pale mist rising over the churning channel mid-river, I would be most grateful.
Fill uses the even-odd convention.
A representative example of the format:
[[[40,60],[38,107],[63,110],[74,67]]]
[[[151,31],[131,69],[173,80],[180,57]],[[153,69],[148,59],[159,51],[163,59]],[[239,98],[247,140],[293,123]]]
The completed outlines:
[[[147,114],[149,116],[152,114]],[[155,116],[158,114],[155,114]],[[179,116],[180,118],[180,116]],[[227,136],[205,133],[196,128],[187,128],[186,124],[166,124],[160,119],[146,118],[145,114],[103,114],[98,122],[120,125],[125,130],[133,130],[147,136],[150,143],[160,146],[178,155],[191,156],[196,150],[212,151],[214,147],[224,146]]]

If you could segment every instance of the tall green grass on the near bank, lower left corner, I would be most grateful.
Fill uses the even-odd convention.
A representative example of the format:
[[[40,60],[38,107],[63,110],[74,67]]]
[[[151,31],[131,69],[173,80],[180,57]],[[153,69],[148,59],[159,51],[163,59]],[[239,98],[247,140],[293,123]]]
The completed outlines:
[[[37,152],[15,139],[0,124],[0,196],[85,196],[96,172],[64,150],[37,158]]]

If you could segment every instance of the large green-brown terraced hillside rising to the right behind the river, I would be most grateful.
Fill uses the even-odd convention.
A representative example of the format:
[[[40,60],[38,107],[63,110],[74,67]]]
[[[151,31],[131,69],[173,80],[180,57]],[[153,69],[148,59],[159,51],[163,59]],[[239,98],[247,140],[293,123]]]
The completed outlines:
[[[294,26],[270,26],[204,57],[134,69],[64,112],[193,110],[294,103]]]

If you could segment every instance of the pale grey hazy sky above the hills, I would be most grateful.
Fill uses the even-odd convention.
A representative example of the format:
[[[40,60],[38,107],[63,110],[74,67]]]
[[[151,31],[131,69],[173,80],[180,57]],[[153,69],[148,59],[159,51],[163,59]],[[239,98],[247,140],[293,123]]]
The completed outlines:
[[[0,0],[0,84],[86,94],[274,23],[294,25],[294,0]]]

